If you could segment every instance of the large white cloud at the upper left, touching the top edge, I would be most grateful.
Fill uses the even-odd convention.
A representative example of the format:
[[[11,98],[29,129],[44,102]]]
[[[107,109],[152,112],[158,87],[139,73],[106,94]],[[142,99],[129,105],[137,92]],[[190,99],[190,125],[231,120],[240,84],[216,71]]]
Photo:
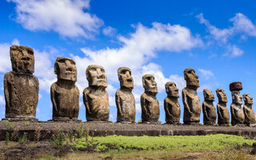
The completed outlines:
[[[92,38],[103,21],[85,12],[90,0],[7,0],[16,4],[16,21],[27,30],[53,30],[64,37]]]

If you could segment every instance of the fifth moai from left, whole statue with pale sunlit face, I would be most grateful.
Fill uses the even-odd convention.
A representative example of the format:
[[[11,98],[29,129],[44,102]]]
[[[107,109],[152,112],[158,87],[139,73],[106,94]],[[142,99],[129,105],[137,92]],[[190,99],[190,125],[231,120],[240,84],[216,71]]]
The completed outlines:
[[[145,92],[141,95],[142,122],[158,122],[160,115],[159,102],[156,97],[158,86],[154,76],[146,74],[142,77]]]

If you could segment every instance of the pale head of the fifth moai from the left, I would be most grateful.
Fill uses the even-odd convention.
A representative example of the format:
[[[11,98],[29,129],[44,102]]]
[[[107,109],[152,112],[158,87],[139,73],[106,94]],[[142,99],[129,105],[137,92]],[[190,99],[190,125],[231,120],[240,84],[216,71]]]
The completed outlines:
[[[142,85],[145,89],[145,92],[158,93],[157,83],[154,81],[154,75],[145,74],[142,77]]]

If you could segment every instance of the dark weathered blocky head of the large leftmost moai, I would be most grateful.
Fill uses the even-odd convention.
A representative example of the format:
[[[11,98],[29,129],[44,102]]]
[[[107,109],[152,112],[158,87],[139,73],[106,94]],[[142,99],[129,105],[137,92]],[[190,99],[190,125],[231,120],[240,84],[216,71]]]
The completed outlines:
[[[34,50],[27,46],[10,46],[10,61],[16,72],[34,73]]]

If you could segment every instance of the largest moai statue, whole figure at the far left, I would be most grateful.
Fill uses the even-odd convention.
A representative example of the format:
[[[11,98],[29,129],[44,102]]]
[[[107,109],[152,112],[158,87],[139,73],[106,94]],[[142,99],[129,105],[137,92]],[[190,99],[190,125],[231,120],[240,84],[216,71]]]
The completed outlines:
[[[12,70],[4,77],[6,120],[37,122],[38,78],[34,77],[34,51],[27,46],[10,46]]]

